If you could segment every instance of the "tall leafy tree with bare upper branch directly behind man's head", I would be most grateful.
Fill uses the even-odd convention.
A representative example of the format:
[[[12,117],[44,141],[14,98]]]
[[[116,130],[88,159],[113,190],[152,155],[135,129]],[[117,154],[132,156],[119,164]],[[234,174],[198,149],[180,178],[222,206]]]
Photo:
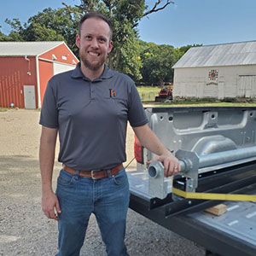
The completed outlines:
[[[97,11],[106,15],[113,25],[113,51],[108,58],[108,66],[119,72],[128,73],[133,79],[142,79],[139,57],[138,31],[139,20],[154,12],[165,9],[172,1],[157,0],[151,9],[144,0],[81,0],[77,14]],[[65,4],[65,3],[64,3]],[[67,4],[67,9],[73,13]]]

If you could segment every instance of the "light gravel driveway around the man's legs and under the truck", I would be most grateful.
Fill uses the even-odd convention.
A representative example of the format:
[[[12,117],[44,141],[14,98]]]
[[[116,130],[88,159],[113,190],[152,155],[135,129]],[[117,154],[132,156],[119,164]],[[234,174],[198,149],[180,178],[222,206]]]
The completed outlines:
[[[0,112],[0,255],[45,255],[57,252],[57,225],[41,212],[38,143],[40,126],[36,110]],[[133,135],[127,136],[127,162],[132,159]],[[134,170],[133,161],[127,171]],[[55,163],[54,183],[60,163]],[[131,256],[202,256],[195,243],[177,236],[129,210],[126,244]],[[81,255],[105,255],[94,216]]]

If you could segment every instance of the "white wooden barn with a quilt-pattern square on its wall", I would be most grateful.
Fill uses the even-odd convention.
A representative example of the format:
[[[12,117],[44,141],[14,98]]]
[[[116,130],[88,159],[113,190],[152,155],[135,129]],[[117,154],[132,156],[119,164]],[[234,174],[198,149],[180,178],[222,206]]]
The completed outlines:
[[[174,98],[256,97],[256,41],[192,47],[173,68]]]

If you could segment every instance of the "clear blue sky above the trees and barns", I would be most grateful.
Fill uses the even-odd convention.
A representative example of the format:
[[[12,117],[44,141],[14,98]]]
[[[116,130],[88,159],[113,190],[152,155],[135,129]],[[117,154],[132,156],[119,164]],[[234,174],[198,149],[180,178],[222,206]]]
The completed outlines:
[[[0,0],[1,31],[8,34],[6,18],[26,22],[39,11],[57,9],[79,0]],[[155,0],[156,1],[156,0]],[[146,0],[149,7],[154,0]],[[140,38],[155,44],[224,44],[256,40],[256,0],[173,0],[166,9],[144,17]],[[164,1],[165,2],[165,1]]]

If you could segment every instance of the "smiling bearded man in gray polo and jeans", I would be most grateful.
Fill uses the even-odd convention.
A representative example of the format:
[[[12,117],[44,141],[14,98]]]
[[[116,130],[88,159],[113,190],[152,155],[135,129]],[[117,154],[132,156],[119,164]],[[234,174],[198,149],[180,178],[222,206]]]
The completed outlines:
[[[76,36],[80,63],[50,79],[44,95],[39,153],[42,208],[48,218],[58,220],[58,256],[79,255],[91,213],[108,256],[128,255],[124,239],[129,184],[122,166],[127,120],[143,146],[159,155],[156,160],[163,162],[166,177],[180,171],[178,160],[148,128],[133,81],[106,66],[111,38],[105,16],[84,15]],[[63,169],[55,194],[57,133]]]

